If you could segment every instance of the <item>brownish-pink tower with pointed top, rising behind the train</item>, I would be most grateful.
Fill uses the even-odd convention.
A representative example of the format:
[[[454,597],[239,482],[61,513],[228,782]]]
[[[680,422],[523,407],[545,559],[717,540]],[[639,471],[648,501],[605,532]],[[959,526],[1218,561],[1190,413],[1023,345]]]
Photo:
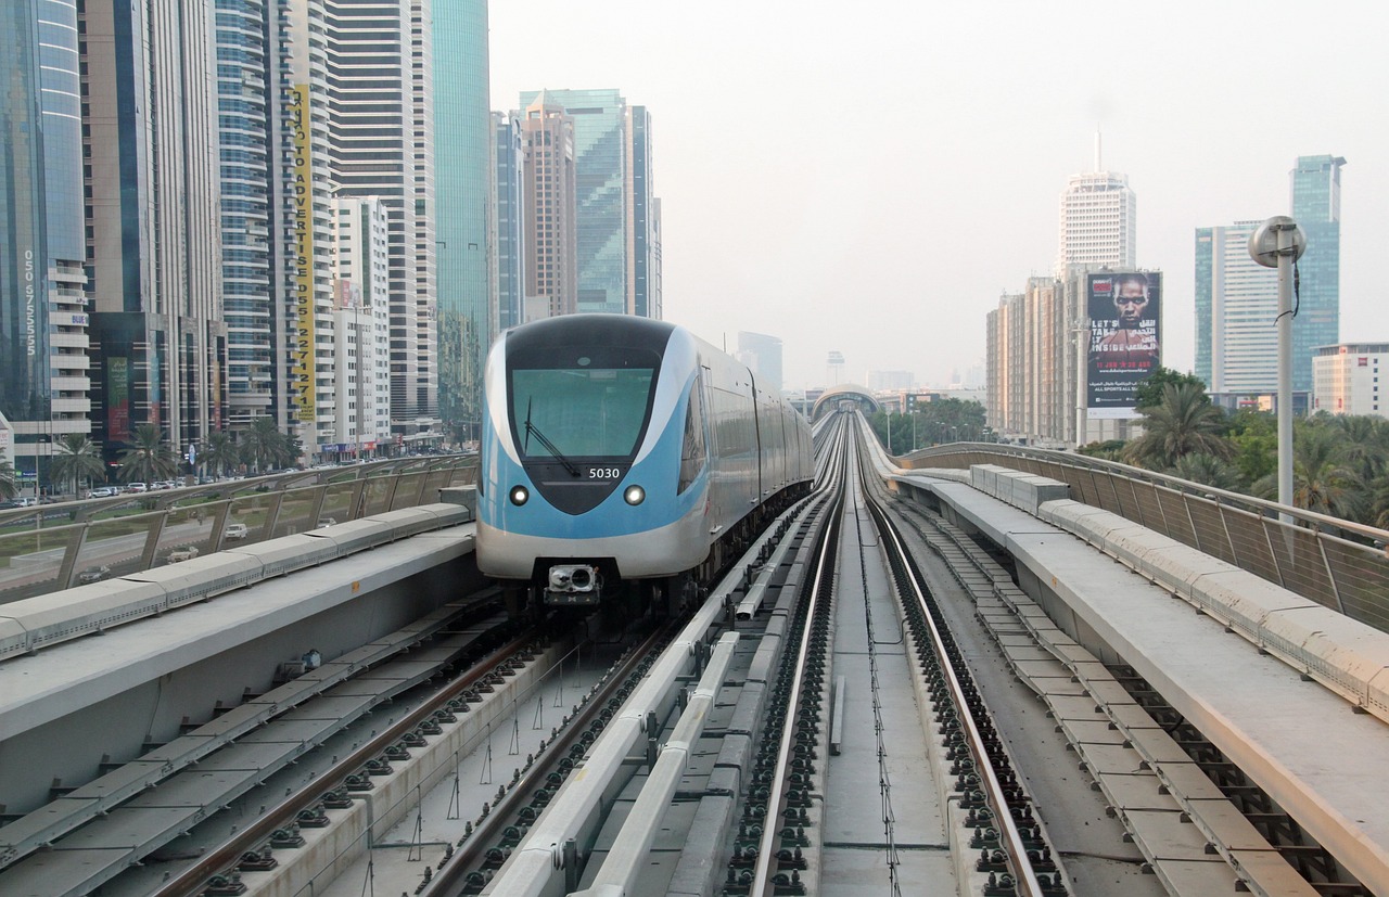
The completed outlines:
[[[525,321],[578,307],[578,185],[574,119],[542,90],[521,121]]]

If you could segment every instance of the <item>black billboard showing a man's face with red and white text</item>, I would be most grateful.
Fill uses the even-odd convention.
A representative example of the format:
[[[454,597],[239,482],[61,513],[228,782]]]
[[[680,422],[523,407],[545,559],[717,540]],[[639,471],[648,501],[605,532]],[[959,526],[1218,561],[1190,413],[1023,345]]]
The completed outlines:
[[[1138,385],[1161,362],[1163,275],[1086,275],[1090,351],[1085,405],[1090,418],[1136,418]]]

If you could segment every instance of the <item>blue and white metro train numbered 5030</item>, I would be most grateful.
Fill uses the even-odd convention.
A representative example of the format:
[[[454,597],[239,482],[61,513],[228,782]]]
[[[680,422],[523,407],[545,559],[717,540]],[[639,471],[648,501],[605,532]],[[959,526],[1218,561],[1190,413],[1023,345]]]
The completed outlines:
[[[578,314],[488,357],[478,568],[544,604],[678,601],[808,493],[810,425],[689,330]]]

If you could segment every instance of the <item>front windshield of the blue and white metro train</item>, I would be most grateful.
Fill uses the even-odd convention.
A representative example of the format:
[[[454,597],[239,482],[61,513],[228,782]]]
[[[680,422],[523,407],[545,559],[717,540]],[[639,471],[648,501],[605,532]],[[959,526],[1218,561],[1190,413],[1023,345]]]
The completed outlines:
[[[525,458],[631,458],[646,430],[653,367],[511,369],[511,426]]]

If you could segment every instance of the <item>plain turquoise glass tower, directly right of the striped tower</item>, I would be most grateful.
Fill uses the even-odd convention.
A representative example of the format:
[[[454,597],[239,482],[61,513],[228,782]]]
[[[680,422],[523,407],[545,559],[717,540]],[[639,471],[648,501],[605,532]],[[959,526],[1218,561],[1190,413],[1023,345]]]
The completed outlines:
[[[439,418],[454,439],[482,419],[482,365],[497,333],[493,267],[493,126],[488,3],[433,4],[435,172],[439,251]]]

